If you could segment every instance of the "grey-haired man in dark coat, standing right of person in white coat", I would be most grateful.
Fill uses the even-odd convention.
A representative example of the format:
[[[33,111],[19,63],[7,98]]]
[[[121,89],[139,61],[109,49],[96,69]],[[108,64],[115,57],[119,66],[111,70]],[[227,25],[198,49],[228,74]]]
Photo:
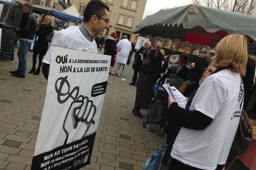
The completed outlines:
[[[141,47],[138,51],[136,51],[134,56],[134,65],[133,65],[134,75],[132,77],[132,82],[129,83],[129,85],[136,85],[138,73],[140,74],[140,70],[141,70],[142,60],[147,58],[147,51],[150,45],[151,45],[150,41],[146,41],[144,43],[144,46]]]

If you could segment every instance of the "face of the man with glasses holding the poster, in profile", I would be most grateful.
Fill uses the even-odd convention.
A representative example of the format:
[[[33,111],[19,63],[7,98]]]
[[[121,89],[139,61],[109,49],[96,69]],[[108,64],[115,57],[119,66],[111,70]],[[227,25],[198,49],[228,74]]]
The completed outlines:
[[[109,11],[105,9],[105,15],[102,17],[97,17],[98,20],[96,21],[95,25],[93,26],[93,30],[96,34],[102,35],[105,28],[109,26]]]

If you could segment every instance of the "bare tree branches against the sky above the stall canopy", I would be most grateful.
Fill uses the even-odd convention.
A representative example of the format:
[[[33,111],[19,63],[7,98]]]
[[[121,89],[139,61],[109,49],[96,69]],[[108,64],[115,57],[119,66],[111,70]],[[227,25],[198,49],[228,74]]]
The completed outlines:
[[[200,6],[233,11],[241,14],[256,15],[255,0],[192,0]]]

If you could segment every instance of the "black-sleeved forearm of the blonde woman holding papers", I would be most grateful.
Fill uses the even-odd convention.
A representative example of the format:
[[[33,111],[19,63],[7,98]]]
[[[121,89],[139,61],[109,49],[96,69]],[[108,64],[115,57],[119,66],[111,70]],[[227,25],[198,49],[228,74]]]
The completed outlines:
[[[168,109],[167,121],[189,129],[203,130],[212,122],[212,118],[200,111],[180,108],[176,102],[173,102]]]

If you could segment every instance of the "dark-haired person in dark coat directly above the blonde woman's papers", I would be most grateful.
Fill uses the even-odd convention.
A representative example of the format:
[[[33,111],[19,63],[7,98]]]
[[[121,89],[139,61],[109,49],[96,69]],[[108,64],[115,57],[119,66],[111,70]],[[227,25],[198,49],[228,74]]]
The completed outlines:
[[[159,82],[158,85],[164,83],[166,78],[171,79],[179,79],[179,83],[181,84],[183,81],[187,81],[189,79],[189,68],[186,67],[186,64],[189,62],[189,56],[187,54],[180,54],[180,63],[179,65],[172,66],[168,69],[167,73],[164,74]],[[172,85],[172,83],[170,83]],[[172,85],[175,86],[175,85]]]

